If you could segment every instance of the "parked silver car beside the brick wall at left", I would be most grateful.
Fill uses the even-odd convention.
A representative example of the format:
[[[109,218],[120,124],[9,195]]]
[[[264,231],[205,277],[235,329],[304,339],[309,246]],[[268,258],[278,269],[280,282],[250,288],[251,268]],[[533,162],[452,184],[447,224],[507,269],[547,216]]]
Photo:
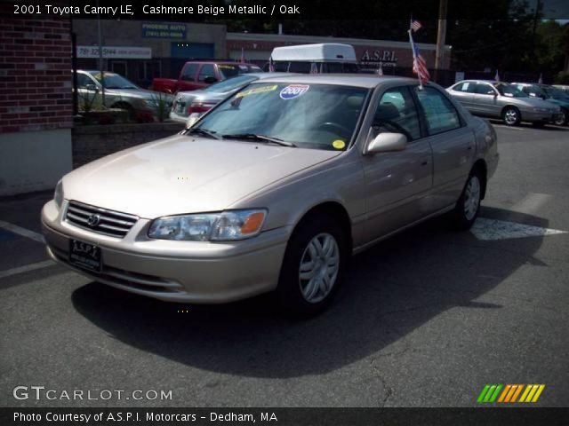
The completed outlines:
[[[122,75],[105,71],[104,81],[100,71],[77,70],[79,109],[88,110],[102,106],[102,83],[105,83],[105,106],[122,108],[131,117],[137,113],[156,115],[164,108],[165,114],[172,108],[172,95],[141,89]],[[164,105],[159,105],[164,103]]]

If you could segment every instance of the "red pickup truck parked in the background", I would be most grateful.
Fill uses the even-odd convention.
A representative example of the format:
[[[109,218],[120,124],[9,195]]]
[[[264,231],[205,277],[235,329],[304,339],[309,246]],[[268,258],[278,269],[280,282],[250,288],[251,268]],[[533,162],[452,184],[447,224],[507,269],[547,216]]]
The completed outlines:
[[[253,64],[219,61],[189,61],[181,68],[178,80],[172,78],[155,78],[152,81],[153,91],[176,93],[178,91],[195,91],[212,83],[217,83],[240,74],[261,73],[262,69]]]

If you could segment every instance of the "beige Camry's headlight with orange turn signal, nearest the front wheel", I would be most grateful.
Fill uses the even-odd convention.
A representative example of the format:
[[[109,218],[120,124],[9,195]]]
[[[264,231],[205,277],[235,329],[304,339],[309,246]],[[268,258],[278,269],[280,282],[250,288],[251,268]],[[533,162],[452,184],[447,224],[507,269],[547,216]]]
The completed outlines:
[[[267,210],[229,210],[219,213],[159,217],[148,230],[148,237],[178,241],[236,241],[260,233]]]

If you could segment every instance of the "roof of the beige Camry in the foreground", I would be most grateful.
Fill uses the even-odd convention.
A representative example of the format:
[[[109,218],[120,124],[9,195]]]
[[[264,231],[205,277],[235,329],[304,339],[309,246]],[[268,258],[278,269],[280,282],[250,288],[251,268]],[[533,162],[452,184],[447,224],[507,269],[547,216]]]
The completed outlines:
[[[362,74],[297,74],[288,76],[278,76],[277,73],[267,73],[275,75],[270,80],[276,83],[291,84],[337,84],[343,86],[357,86],[372,89],[381,83],[400,82],[400,83],[416,83],[417,79],[409,77],[400,77],[396,75],[362,75]],[[265,78],[263,80],[267,80]],[[254,83],[254,82],[253,82]]]

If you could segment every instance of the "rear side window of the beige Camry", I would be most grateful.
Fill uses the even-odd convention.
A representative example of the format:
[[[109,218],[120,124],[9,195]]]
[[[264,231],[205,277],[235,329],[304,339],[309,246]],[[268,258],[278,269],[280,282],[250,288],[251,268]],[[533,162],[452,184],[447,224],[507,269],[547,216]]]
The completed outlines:
[[[458,112],[443,93],[432,87],[425,87],[416,93],[425,115],[429,135],[461,127]]]

